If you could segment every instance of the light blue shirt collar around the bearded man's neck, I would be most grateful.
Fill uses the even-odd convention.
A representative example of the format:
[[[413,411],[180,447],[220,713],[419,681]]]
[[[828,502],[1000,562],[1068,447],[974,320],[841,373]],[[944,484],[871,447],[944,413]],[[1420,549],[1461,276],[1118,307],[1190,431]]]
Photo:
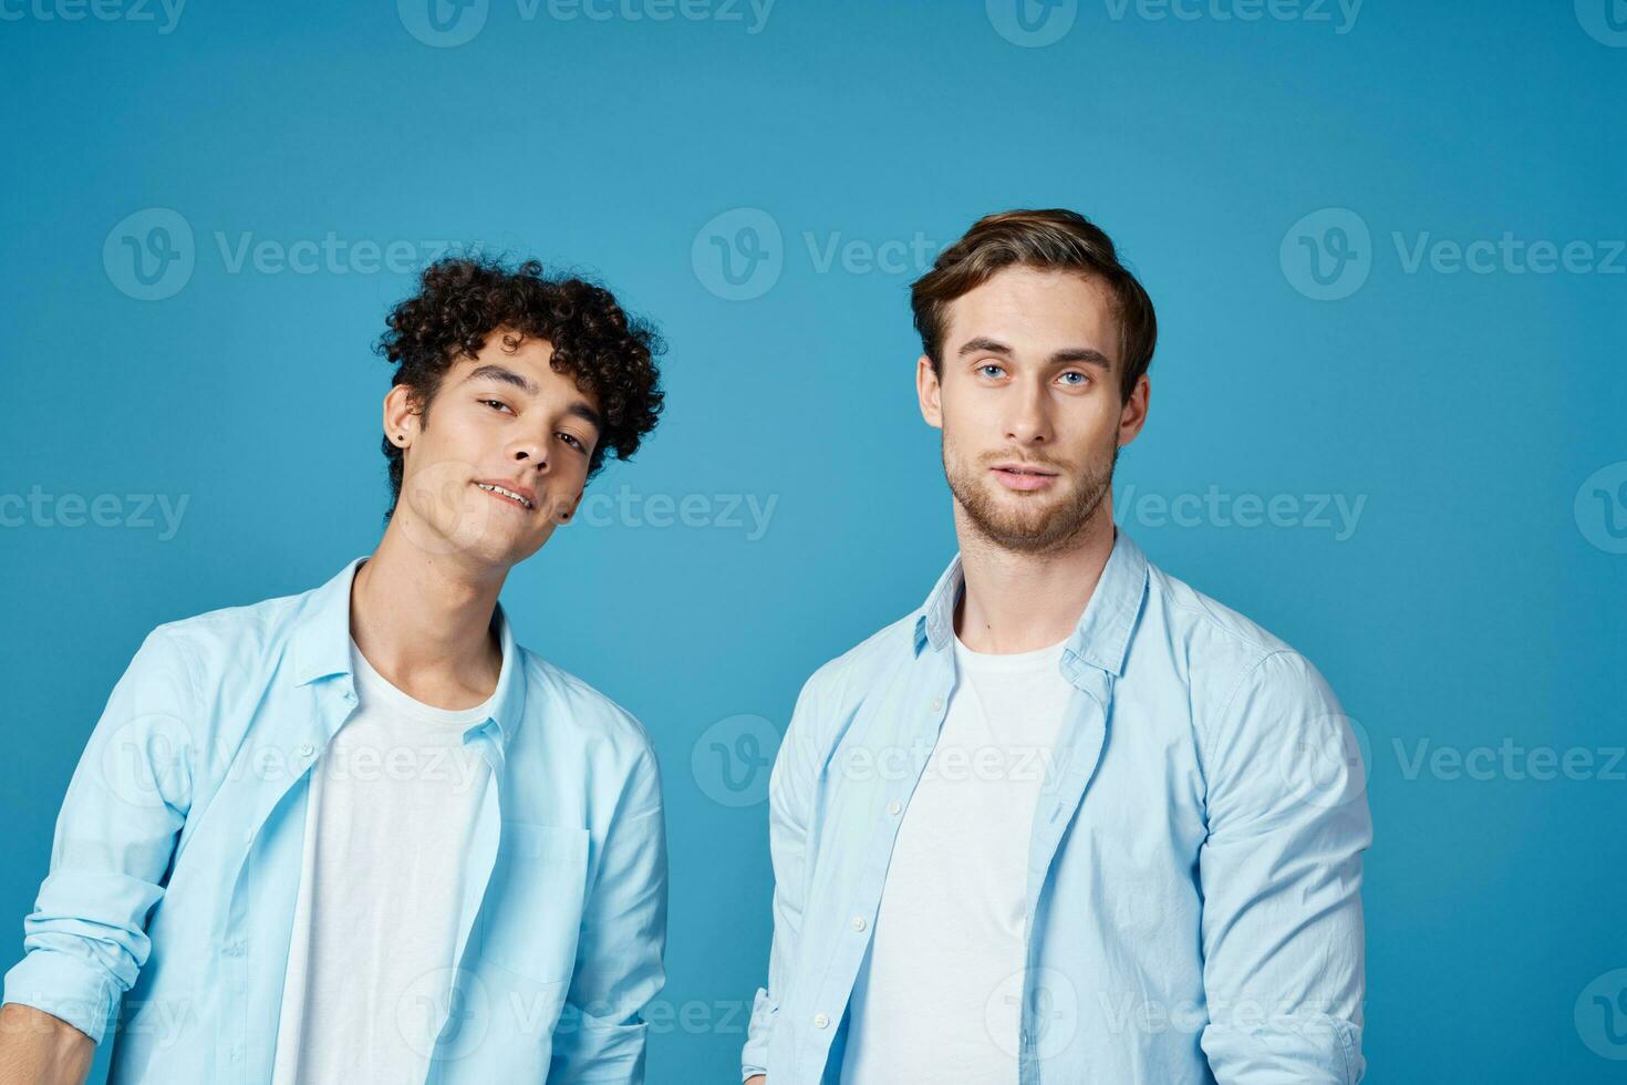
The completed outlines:
[[[957,553],[937,577],[914,621],[914,651],[931,646],[944,651],[955,634],[955,602],[965,586],[965,574]],[[1147,556],[1128,534],[1114,529],[1113,551],[1101,569],[1097,589],[1090,592],[1085,613],[1079,615],[1074,634],[1067,638],[1064,656],[1074,657],[1118,677],[1124,673],[1124,657],[1129,654],[1129,634],[1136,628],[1142,600],[1147,595]]]

